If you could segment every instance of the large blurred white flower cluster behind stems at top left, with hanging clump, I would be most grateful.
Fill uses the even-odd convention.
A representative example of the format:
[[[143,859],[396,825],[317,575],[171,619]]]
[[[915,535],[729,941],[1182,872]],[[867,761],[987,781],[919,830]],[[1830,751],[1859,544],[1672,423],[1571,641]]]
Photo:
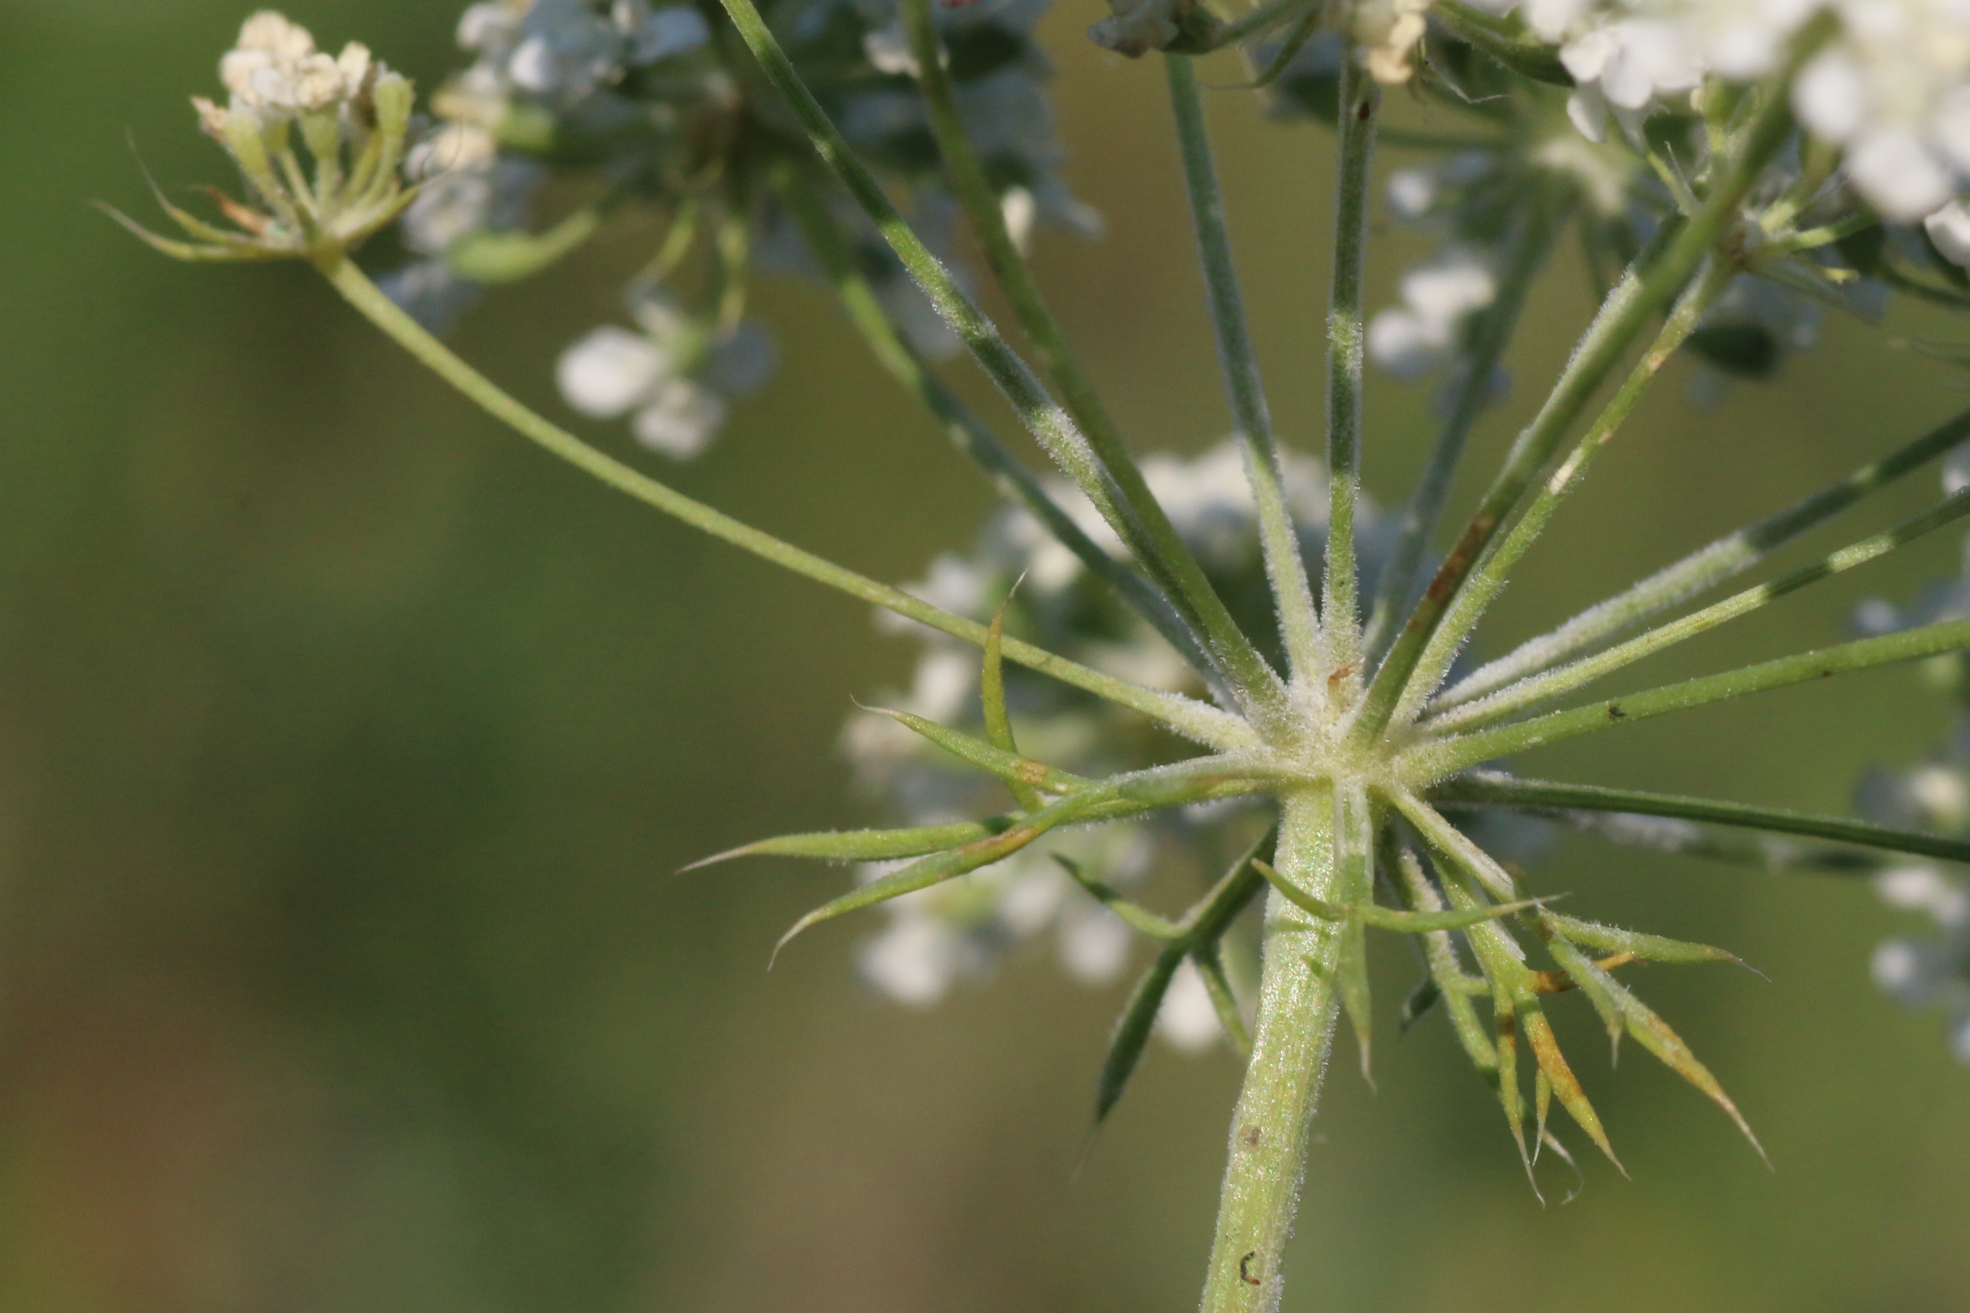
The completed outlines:
[[[928,118],[898,0],[766,0],[760,8],[857,154],[906,197],[926,242],[955,258],[957,207],[924,159]],[[938,10],[959,112],[989,173],[1003,179],[1003,207],[1020,242],[1040,222],[1099,228],[1058,173],[1050,69],[1032,39],[1046,8],[1048,0],[989,0]],[[435,96],[439,124],[414,150],[424,187],[404,238],[416,260],[384,281],[390,295],[441,329],[483,283],[546,268],[624,201],[672,220],[680,242],[662,260],[666,270],[684,270],[682,287],[717,287],[721,299],[737,301],[745,289],[731,280],[818,276],[766,177],[786,150],[806,156],[792,146],[798,126],[751,55],[711,39],[707,14],[691,0],[471,4],[457,39],[473,61]],[[532,236],[530,211],[554,175],[599,183],[609,201]],[[841,197],[827,201],[912,346],[926,356],[961,348],[861,211]],[[729,240],[735,226],[747,230],[737,244]],[[705,240],[709,232],[717,240]],[[747,252],[737,266],[727,264],[735,246]],[[693,276],[713,262],[709,276]],[[632,289],[630,307],[636,331],[605,325],[563,354],[561,394],[585,415],[628,417],[640,443],[688,459],[721,427],[729,402],[758,386],[772,350],[749,325],[711,327],[697,301]]]

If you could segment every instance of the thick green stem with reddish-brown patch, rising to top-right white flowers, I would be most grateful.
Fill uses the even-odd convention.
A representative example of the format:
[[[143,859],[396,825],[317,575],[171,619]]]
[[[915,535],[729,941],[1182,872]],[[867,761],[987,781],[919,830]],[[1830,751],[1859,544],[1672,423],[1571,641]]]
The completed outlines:
[[[1777,154],[1791,132],[1793,116],[1785,87],[1791,85],[1791,75],[1816,49],[1826,31],[1824,22],[1808,26],[1785,67],[1763,89],[1763,104],[1755,110],[1738,154],[1720,165],[1718,181],[1704,201],[1704,209],[1682,226],[1665,224],[1659,234],[1661,242],[1655,244],[1655,250],[1661,252],[1659,258],[1651,258],[1653,252],[1645,252],[1594,317],[1594,325],[1582,337],[1558,384],[1546,396],[1544,406],[1539,407],[1533,423],[1513,443],[1511,455],[1505,459],[1505,469],[1491,482],[1458,543],[1450,549],[1450,555],[1424,591],[1409,624],[1405,624],[1401,638],[1391,648],[1389,659],[1375,673],[1375,683],[1357,719],[1359,736],[1375,738],[1387,728],[1397,701],[1409,687],[1411,673],[1416,669],[1416,661],[1422,659],[1424,646],[1436,632],[1464,577],[1478,563],[1479,553],[1485,551],[1513,508],[1519,506],[1539,470],[1566,439],[1566,431],[1582,415],[1588,402],[1615,370],[1647,323],[1682,289],[1718,238],[1736,222],[1738,211],[1757,183],[1765,161]]]

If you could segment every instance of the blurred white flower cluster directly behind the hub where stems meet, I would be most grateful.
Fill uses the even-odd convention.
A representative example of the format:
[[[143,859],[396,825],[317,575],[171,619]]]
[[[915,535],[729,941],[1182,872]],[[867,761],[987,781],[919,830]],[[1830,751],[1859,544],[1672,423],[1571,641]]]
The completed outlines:
[[[1219,593],[1263,598],[1265,565],[1239,445],[1225,441],[1194,459],[1152,455],[1143,461],[1143,474]],[[1048,480],[1048,490],[1089,537],[1121,551],[1085,498],[1060,480]],[[1288,457],[1286,496],[1300,524],[1302,551],[1318,561],[1326,518],[1320,465]],[[1371,571],[1387,557],[1393,528],[1373,506],[1361,508],[1357,531]],[[1141,683],[1202,691],[1176,652],[1123,610],[1089,579],[1082,561],[1022,510],[999,512],[977,553],[938,557],[910,591],[946,610],[977,616],[1005,602],[1015,581],[1022,583],[1009,624],[1038,642]],[[1267,614],[1247,620],[1263,626]],[[910,689],[886,699],[888,705],[944,724],[975,726],[981,715],[977,650],[886,612],[879,622],[924,642]],[[1007,695],[1020,752],[1036,760],[1089,774],[1156,760],[1154,734],[1129,713],[1015,667],[1007,667]],[[883,797],[898,823],[967,819],[1009,801],[995,780],[981,780],[944,758],[888,717],[857,713],[843,726],[841,742],[857,783]],[[1235,805],[1212,805],[1154,821],[1064,831],[965,880],[890,900],[883,904],[885,927],[859,951],[861,972],[898,1002],[930,1006],[953,984],[989,974],[1017,945],[1050,937],[1070,976],[1091,984],[1113,980],[1129,965],[1129,931],[1082,892],[1052,854],[1080,862],[1087,874],[1121,890],[1149,884],[1200,890],[1231,860],[1227,841],[1251,839],[1251,825],[1225,825],[1237,815]],[[1241,835],[1225,835],[1227,829]],[[888,870],[888,864],[871,864],[863,878]],[[1158,1033],[1192,1051],[1217,1043],[1215,1010],[1192,969],[1170,986]]]

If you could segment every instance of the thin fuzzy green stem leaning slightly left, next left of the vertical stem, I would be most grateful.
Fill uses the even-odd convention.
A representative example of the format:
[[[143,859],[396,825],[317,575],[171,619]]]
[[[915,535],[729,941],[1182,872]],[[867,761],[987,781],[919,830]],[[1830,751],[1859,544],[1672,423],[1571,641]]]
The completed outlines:
[[[914,2],[922,4],[924,0]],[[1164,55],[1162,65],[1168,71],[1176,142],[1182,150],[1184,183],[1190,193],[1190,219],[1198,234],[1212,329],[1217,335],[1217,364],[1231,400],[1231,417],[1245,441],[1245,474],[1259,508],[1265,573],[1279,602],[1279,628],[1286,642],[1292,673],[1300,679],[1314,679],[1320,669],[1320,618],[1314,612],[1314,593],[1306,579],[1306,557],[1300,555],[1300,533],[1286,508],[1286,480],[1279,465],[1279,449],[1273,443],[1273,415],[1265,404],[1259,356],[1245,323],[1245,295],[1239,291],[1237,266],[1231,260],[1225,199],[1217,185],[1217,165],[1212,161],[1198,73],[1188,55]]]

